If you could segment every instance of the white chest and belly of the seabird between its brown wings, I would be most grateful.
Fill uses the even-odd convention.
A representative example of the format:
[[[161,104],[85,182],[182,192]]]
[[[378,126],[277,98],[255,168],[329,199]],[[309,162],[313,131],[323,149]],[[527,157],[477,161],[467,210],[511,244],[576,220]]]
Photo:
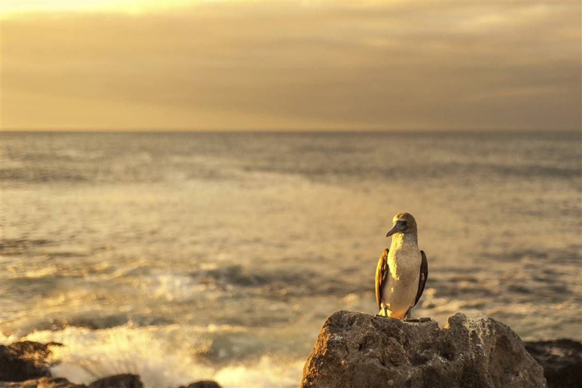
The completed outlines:
[[[396,244],[392,244],[388,253],[390,274],[382,292],[382,302],[393,318],[403,318],[409,307],[414,305],[421,262],[416,243],[396,241]]]

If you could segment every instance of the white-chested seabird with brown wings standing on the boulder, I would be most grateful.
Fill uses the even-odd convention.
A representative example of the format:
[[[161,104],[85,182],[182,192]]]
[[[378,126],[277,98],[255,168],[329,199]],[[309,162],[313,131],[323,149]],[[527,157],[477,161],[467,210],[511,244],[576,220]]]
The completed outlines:
[[[376,267],[376,303],[378,315],[411,319],[411,310],[423,295],[428,278],[428,262],[418,249],[416,220],[400,212],[392,219],[390,249],[386,248]]]

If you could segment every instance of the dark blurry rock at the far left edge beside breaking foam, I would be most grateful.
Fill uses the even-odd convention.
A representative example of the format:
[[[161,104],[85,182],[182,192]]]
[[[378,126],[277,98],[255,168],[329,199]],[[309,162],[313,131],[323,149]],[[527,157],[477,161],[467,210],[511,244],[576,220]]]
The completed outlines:
[[[58,343],[40,344],[32,341],[0,345],[0,380],[23,381],[50,376],[47,362],[51,355],[49,347],[57,345],[62,346]]]

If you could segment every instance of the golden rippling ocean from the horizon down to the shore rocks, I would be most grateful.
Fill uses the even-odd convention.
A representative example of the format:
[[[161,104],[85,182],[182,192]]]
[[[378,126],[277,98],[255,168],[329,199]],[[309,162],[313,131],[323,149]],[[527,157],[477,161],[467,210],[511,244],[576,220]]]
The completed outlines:
[[[582,340],[579,133],[10,133],[0,342],[58,341],[78,383],[294,387],[325,319],[375,314],[392,216],[415,316]]]

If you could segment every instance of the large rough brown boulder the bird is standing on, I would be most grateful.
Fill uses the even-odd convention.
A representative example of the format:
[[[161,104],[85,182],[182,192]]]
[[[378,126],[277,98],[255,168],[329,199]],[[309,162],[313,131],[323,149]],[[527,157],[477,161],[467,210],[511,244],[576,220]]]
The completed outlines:
[[[547,387],[516,333],[484,315],[411,323],[361,312],[329,316],[303,368],[303,388]]]

